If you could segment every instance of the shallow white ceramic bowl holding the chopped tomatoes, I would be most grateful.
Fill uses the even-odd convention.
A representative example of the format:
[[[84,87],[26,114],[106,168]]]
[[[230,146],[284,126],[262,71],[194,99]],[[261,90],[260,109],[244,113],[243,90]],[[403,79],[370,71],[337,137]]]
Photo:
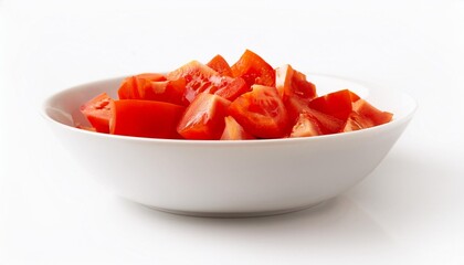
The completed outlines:
[[[212,141],[115,136],[73,127],[78,107],[123,78],[75,86],[48,98],[43,116],[99,182],[131,201],[207,216],[267,215],[316,205],[372,172],[416,108],[402,93],[328,75],[308,75],[318,93],[350,88],[393,120],[378,127],[309,138]]]

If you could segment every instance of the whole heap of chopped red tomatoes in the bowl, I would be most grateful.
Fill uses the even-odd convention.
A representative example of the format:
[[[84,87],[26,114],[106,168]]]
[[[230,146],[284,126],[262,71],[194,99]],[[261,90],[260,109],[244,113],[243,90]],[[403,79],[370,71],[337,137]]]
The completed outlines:
[[[118,98],[103,93],[81,107],[98,132],[196,140],[310,137],[389,123],[349,89],[318,96],[291,65],[273,68],[246,50],[232,66],[221,56],[167,74],[127,77]]]

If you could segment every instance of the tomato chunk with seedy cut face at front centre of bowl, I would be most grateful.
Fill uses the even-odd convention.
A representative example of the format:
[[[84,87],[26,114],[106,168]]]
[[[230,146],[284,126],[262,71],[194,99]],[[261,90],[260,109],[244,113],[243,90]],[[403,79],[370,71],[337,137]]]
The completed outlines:
[[[231,104],[229,114],[259,138],[280,138],[289,130],[287,110],[272,86],[253,85]]]

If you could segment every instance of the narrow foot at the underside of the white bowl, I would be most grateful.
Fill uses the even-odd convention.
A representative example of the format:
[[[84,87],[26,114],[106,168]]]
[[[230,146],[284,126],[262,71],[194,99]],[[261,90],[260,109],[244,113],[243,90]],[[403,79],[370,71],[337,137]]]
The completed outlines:
[[[325,204],[325,202],[326,201],[321,201],[321,202],[317,202],[317,203],[308,204],[304,206],[298,206],[298,208],[272,210],[272,211],[256,211],[256,212],[194,212],[194,211],[171,210],[171,209],[157,208],[157,206],[150,206],[150,205],[146,205],[146,206],[160,211],[160,212],[166,212],[166,213],[171,213],[171,214],[177,214],[177,215],[187,215],[187,216],[196,216],[196,218],[238,219],[238,218],[272,216],[272,215],[285,214],[285,213],[298,212],[303,210],[316,209]]]

